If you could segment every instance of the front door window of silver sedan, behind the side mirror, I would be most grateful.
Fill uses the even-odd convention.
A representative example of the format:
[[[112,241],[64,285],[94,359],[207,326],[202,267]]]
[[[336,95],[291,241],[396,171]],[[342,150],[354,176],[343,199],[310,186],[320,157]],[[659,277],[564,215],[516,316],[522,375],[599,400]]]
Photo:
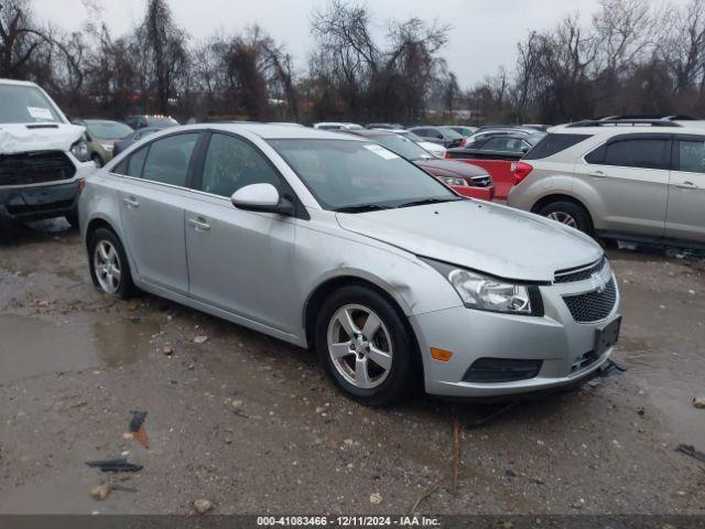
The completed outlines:
[[[230,197],[250,184],[272,184],[281,192],[279,174],[254,147],[232,136],[213,134],[200,191]]]

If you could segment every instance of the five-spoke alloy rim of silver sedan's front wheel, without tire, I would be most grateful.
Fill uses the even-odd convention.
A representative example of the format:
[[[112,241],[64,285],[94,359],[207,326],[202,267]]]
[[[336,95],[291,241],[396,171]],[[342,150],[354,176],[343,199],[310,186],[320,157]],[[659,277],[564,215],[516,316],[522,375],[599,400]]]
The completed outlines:
[[[344,305],[328,324],[328,354],[336,370],[352,386],[373,389],[392,367],[392,341],[382,320],[370,309]]]

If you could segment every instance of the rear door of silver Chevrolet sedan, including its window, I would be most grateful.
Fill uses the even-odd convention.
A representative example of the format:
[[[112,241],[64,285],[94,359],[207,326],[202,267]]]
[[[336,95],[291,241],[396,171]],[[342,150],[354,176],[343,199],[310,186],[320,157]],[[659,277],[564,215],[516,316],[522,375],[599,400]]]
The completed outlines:
[[[181,294],[188,293],[184,242],[186,186],[196,132],[160,138],[127,161],[119,188],[126,245],[140,279]]]

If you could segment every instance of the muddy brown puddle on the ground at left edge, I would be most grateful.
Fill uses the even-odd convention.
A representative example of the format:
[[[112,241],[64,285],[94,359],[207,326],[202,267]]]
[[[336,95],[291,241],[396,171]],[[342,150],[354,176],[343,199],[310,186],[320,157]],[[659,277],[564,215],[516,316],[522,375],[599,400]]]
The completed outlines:
[[[155,327],[130,322],[72,321],[0,315],[0,384],[73,369],[134,363]]]

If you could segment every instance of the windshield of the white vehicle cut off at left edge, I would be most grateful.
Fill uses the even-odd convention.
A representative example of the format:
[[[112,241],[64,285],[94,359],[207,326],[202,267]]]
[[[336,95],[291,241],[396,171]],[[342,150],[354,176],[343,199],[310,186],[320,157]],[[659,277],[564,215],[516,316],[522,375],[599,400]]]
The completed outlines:
[[[63,123],[48,98],[34,86],[0,85],[0,123]]]

